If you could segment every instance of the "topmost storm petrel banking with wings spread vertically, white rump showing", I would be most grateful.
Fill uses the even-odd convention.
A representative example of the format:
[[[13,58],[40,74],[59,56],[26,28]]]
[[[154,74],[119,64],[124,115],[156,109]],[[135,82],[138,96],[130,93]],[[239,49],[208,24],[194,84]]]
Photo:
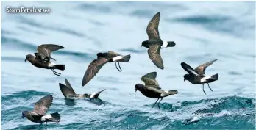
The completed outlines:
[[[174,41],[163,41],[160,38],[158,32],[158,26],[160,21],[160,12],[151,19],[149,25],[146,27],[146,33],[149,36],[149,40],[142,42],[141,47],[144,46],[149,48],[149,58],[152,60],[154,65],[163,70],[163,59],[160,55],[161,48],[174,47],[176,44]]]

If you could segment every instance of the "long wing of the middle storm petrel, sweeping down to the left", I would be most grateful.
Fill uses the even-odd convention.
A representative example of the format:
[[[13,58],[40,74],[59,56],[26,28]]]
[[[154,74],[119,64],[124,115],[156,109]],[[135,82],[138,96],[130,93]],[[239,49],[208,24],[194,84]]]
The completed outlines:
[[[94,76],[99,72],[103,65],[105,65],[109,59],[99,57],[94,59],[93,62],[90,63],[87,70],[85,71],[85,75],[82,79],[82,86],[85,86]]]

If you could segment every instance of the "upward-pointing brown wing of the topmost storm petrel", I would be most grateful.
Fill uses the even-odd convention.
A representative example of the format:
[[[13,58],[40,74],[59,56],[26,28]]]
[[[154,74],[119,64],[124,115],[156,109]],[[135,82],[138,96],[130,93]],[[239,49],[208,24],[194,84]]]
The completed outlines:
[[[158,26],[160,20],[160,12],[154,15],[154,17],[149,21],[146,27],[146,33],[149,36],[149,40],[157,40],[159,38]]]

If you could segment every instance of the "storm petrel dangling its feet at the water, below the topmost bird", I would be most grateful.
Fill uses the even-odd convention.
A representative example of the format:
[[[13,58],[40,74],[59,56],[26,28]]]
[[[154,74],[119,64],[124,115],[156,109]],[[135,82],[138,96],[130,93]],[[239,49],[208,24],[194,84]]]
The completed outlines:
[[[160,99],[160,101],[157,104],[157,101],[154,103],[157,104],[158,108],[160,109],[160,102],[163,100],[164,97],[167,97],[168,95],[174,95],[177,94],[177,90],[162,90],[159,87],[159,84],[156,80],[157,72],[151,72],[147,73],[146,75],[141,77],[141,80],[145,83],[143,84],[136,84],[135,85],[135,92],[137,90],[141,91],[143,95],[145,95],[148,98],[157,98],[157,101]],[[153,106],[154,106],[153,105]]]

